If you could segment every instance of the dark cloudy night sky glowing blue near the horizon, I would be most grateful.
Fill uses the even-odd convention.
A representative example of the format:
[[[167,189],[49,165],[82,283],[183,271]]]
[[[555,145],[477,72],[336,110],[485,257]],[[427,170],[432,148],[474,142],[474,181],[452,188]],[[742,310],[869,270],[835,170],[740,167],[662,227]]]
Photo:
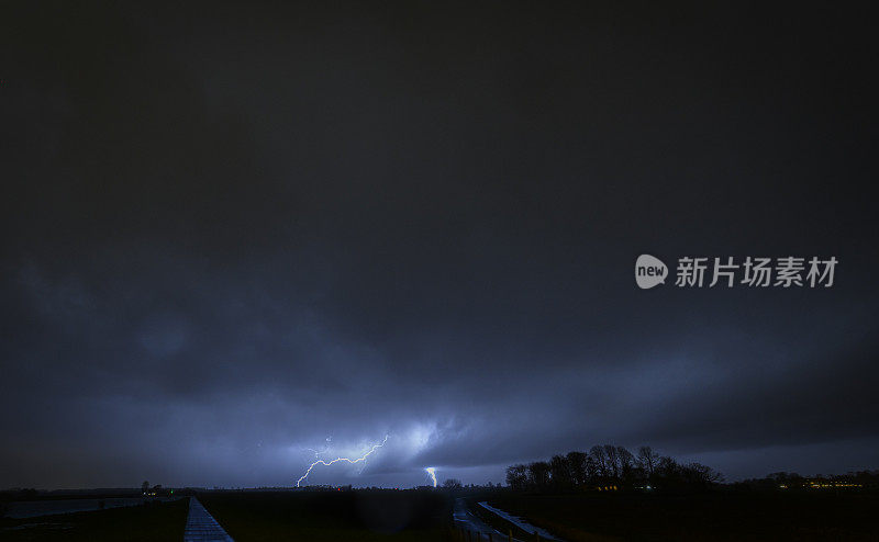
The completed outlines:
[[[441,4],[4,3],[0,487],[879,467],[874,20]]]

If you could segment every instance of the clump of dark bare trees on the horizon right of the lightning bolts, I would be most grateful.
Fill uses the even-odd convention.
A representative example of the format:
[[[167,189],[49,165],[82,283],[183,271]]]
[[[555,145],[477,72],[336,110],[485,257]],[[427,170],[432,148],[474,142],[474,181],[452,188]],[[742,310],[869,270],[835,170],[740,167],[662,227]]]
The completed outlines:
[[[507,484],[513,490],[705,488],[722,479],[709,466],[680,464],[650,447],[641,447],[633,454],[624,447],[596,445],[589,452],[507,467]]]

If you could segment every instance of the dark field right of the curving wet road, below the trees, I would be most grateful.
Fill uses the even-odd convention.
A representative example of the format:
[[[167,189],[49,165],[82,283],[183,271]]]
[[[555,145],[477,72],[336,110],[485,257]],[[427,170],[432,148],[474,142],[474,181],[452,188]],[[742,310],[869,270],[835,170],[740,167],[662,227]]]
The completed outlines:
[[[879,540],[879,496],[875,494],[496,494],[488,500],[570,542],[607,540],[604,537],[634,541]]]

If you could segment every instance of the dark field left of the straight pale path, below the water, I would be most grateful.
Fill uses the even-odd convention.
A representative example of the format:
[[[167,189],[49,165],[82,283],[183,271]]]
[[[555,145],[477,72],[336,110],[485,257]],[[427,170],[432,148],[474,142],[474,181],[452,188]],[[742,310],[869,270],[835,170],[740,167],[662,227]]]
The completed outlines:
[[[179,541],[188,500],[153,503],[109,510],[0,519],[0,540]]]

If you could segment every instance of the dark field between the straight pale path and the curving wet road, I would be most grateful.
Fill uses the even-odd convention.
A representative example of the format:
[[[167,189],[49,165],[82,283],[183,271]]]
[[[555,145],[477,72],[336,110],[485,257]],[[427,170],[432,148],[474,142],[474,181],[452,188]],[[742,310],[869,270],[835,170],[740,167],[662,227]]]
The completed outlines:
[[[435,492],[207,493],[199,500],[236,542],[441,541],[450,508]]]

